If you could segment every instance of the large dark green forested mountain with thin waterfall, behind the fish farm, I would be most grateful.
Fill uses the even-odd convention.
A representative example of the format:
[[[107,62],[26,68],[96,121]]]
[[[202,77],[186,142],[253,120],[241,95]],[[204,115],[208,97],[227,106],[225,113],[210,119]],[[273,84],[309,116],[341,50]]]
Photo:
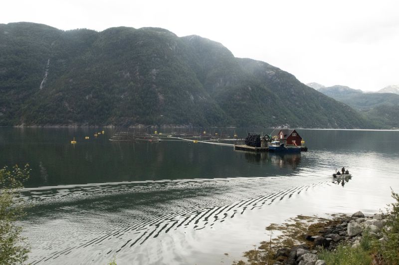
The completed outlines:
[[[222,44],[162,28],[0,24],[0,125],[375,128]]]

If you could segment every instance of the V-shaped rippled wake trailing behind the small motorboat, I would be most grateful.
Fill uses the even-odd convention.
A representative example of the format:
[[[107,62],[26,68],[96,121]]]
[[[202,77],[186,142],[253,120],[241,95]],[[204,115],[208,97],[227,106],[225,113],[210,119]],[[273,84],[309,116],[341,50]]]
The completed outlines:
[[[284,178],[181,179],[25,189],[24,197],[33,208],[46,204],[48,209],[38,213],[42,219],[31,217],[24,224],[34,246],[29,262],[62,264],[64,257],[69,264],[96,264],[116,254],[132,255],[135,247],[160,235],[178,229],[212,228],[245,211],[330,184],[325,179],[316,183],[309,180],[287,189],[281,184]],[[92,203],[84,206],[88,200]],[[44,229],[52,230],[49,233]]]

